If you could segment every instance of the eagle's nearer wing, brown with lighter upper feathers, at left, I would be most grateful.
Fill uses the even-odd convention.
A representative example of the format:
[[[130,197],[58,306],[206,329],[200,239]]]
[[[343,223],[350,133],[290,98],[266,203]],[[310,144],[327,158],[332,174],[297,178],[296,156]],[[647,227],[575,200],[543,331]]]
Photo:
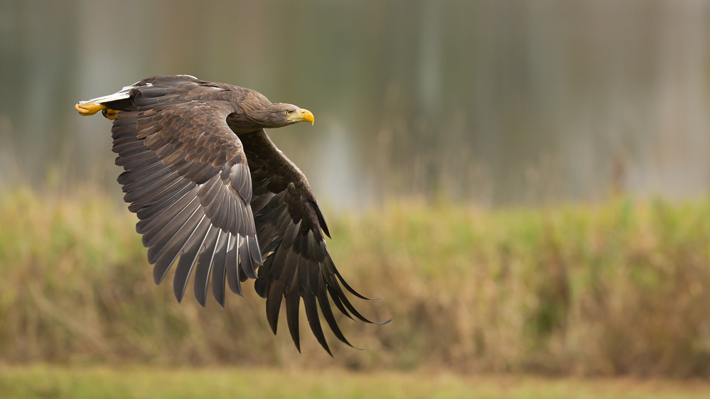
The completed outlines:
[[[238,97],[234,88],[154,77],[109,104],[119,111],[113,151],[125,171],[118,181],[140,219],[136,231],[143,234],[156,283],[177,263],[173,290],[181,300],[195,270],[195,297],[202,305],[212,270],[213,293],[224,306],[227,275],[234,278],[230,288],[240,292],[242,273],[256,277],[262,263],[247,158],[226,121],[238,108],[229,101]]]

